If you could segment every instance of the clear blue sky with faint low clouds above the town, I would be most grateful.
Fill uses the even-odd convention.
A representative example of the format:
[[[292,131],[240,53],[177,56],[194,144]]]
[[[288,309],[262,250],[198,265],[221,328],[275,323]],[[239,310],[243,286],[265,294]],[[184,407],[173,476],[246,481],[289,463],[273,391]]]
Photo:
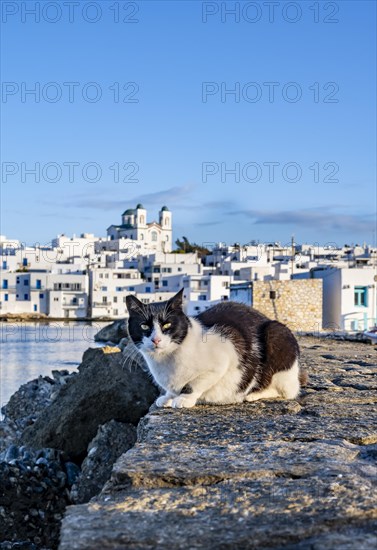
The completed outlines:
[[[2,4],[2,234],[101,236],[142,202],[200,243],[375,244],[374,2]]]

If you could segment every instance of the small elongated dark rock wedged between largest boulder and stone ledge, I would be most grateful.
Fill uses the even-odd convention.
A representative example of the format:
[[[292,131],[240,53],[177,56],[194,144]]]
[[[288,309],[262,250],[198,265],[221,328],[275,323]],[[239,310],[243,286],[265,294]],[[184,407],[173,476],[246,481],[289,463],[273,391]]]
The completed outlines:
[[[71,499],[76,503],[88,502],[97,495],[110,478],[114,462],[133,447],[136,428],[111,420],[100,426],[88,447],[88,455],[81,465],[81,475],[72,487]]]

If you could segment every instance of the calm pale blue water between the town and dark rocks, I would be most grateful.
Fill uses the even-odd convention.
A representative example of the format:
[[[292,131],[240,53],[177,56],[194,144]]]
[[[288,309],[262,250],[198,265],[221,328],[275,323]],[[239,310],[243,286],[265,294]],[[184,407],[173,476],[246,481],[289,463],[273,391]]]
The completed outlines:
[[[51,375],[52,370],[76,370],[89,347],[99,347],[94,335],[108,323],[0,323],[0,406],[21,384]]]

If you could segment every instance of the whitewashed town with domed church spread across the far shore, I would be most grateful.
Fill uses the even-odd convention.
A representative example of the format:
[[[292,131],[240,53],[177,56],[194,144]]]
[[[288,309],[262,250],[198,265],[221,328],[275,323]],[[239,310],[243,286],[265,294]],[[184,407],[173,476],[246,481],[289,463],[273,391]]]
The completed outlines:
[[[373,247],[219,243],[203,258],[172,249],[170,210],[163,206],[158,222],[148,222],[141,204],[103,237],[59,235],[51,246],[31,247],[0,236],[0,314],[120,319],[128,315],[127,295],[151,303],[183,287],[188,314],[230,299],[319,329],[377,323]]]

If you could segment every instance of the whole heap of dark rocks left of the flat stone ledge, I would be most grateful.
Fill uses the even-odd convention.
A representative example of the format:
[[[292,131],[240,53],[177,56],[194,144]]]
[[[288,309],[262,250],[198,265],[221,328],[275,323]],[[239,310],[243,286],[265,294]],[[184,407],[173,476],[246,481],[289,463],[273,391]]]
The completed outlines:
[[[21,386],[0,422],[0,550],[55,550],[66,507],[100,492],[157,395],[116,346]]]

